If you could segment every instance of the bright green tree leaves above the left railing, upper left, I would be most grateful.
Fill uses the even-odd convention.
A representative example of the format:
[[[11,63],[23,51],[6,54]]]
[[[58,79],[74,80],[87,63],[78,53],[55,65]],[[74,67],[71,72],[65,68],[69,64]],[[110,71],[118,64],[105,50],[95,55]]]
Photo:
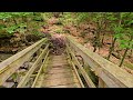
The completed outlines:
[[[0,33],[0,37],[13,36],[14,32],[25,33],[28,24],[30,23],[30,21],[28,21],[28,18],[40,19],[41,13],[35,12],[34,16],[34,12],[0,12],[0,21],[2,22],[0,23],[0,31],[2,31]],[[17,24],[12,21],[17,21]],[[33,29],[39,29],[39,26],[38,28],[33,27]],[[3,33],[4,31],[7,33]]]

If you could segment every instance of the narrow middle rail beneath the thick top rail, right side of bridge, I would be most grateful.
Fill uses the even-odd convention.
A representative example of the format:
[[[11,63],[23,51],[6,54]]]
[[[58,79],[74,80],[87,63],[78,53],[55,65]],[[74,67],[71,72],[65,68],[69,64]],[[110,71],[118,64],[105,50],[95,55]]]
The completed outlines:
[[[66,48],[69,50],[69,52],[72,56],[72,60],[75,62],[75,64],[78,66],[78,68],[80,69],[83,78],[85,79],[88,86],[90,88],[95,88],[94,83],[92,82],[92,80],[89,78],[88,73],[84,71],[84,69],[82,68],[82,66],[80,64],[80,62],[78,61],[78,59],[75,58],[74,53],[70,50],[69,46],[66,44]]]

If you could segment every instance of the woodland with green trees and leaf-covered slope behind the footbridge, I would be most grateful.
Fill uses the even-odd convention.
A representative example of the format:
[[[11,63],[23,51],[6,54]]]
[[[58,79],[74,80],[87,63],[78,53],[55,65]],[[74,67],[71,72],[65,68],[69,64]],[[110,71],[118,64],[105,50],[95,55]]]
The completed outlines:
[[[73,36],[133,74],[133,12],[0,12],[0,62],[49,33]]]

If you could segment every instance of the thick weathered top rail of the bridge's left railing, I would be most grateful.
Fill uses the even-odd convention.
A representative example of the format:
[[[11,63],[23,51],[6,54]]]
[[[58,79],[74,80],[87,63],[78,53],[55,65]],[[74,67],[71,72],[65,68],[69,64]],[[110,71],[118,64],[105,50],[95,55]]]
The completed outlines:
[[[27,49],[18,52],[0,63],[0,86],[17,70],[24,61],[28,61],[30,57],[43,44],[47,39],[42,39]]]

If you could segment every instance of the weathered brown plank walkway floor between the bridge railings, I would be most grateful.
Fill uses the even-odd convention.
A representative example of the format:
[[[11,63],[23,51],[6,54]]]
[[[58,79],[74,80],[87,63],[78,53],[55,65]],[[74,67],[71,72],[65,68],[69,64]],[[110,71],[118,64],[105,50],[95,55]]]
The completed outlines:
[[[66,56],[51,56],[42,88],[80,88],[79,80],[69,66]]]

